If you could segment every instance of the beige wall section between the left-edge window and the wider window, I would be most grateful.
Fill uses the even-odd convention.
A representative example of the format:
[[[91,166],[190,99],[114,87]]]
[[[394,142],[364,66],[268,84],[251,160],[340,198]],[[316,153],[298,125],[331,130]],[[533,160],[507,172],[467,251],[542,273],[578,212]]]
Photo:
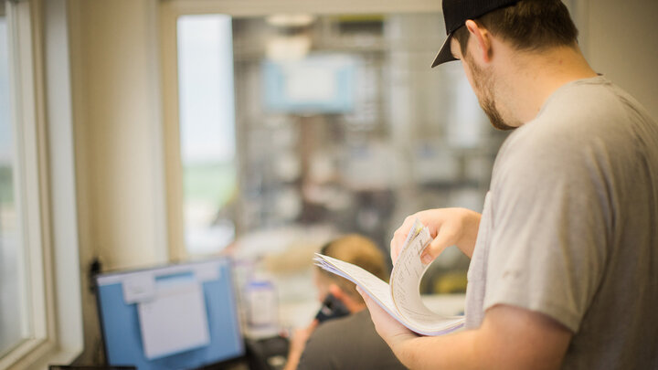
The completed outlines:
[[[156,0],[69,0],[85,324],[81,362],[100,342],[90,261],[103,270],[167,260]],[[89,363],[89,362],[88,362]]]

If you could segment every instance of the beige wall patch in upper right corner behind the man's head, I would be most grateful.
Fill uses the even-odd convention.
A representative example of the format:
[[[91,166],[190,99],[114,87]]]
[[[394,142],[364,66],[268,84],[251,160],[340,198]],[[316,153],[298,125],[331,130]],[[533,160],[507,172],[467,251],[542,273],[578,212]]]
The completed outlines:
[[[658,120],[658,1],[588,3],[584,52],[590,64]]]

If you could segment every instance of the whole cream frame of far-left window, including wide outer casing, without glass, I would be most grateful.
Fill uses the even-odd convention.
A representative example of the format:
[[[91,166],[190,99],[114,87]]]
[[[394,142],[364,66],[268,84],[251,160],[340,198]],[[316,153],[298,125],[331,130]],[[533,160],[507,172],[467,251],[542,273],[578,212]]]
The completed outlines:
[[[71,120],[66,114],[70,107],[48,109],[48,100],[62,102],[56,98],[62,86],[56,84],[61,80],[55,76],[69,68],[68,45],[63,56],[58,55],[62,58],[50,58],[53,50],[48,53],[46,48],[53,38],[68,37],[66,31],[60,32],[66,29],[66,22],[61,22],[66,21],[66,3],[7,0],[5,5],[15,197],[20,243],[25,248],[32,338],[0,357],[0,368],[48,368],[49,361],[69,363],[82,350],[77,216],[70,196],[75,194],[75,174],[61,171],[74,166],[73,156],[67,155],[73,150]],[[49,23],[59,23],[58,27],[48,26],[54,13],[58,22]],[[63,140],[66,135],[70,140]],[[58,171],[50,173],[51,169]],[[67,211],[70,208],[73,211]]]

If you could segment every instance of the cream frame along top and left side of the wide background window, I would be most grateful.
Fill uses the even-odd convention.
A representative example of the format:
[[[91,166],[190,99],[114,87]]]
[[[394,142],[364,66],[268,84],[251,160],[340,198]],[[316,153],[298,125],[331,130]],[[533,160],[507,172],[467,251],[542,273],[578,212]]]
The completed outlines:
[[[373,14],[440,12],[435,0],[381,2],[380,0],[160,0],[160,80],[164,125],[164,173],[166,192],[167,239],[170,260],[185,260],[191,256],[185,246],[183,196],[183,162],[180,153],[180,123],[178,111],[178,61],[176,21],[179,16],[223,14],[233,17],[269,16],[274,14],[312,13]],[[236,122],[239,124],[239,122]],[[239,128],[236,127],[236,132]],[[239,149],[237,150],[239,156]],[[239,161],[239,157],[237,159]]]

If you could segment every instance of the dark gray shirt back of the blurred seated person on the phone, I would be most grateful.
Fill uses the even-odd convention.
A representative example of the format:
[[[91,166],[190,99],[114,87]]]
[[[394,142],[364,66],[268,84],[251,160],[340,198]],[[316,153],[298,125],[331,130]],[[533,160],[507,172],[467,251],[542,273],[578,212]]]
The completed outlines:
[[[297,370],[406,369],[377,334],[370,312],[324,322],[311,334]]]

